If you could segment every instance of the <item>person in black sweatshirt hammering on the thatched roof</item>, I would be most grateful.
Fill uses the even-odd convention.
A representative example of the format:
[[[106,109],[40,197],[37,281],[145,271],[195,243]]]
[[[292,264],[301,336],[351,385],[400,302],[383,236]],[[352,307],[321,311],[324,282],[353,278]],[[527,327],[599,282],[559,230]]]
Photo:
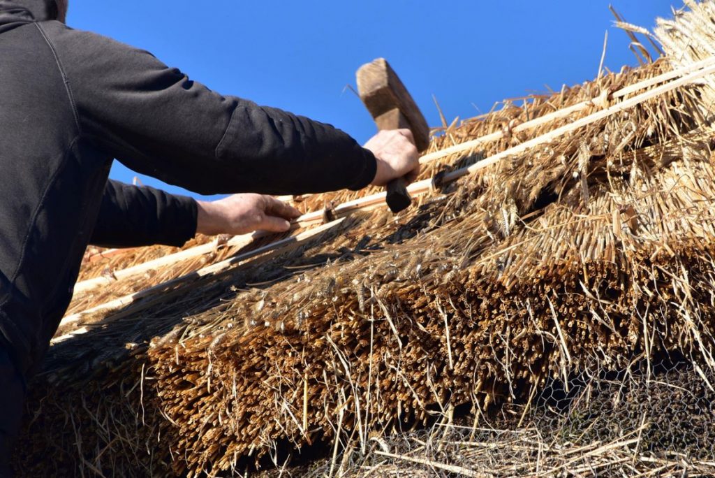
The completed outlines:
[[[88,243],[181,245],[287,230],[303,194],[414,177],[409,131],[365,148],[329,125],[224,97],[152,55],[64,25],[66,0],[0,0],[0,470],[24,380],[66,310]],[[113,158],[215,203],[107,182]]]

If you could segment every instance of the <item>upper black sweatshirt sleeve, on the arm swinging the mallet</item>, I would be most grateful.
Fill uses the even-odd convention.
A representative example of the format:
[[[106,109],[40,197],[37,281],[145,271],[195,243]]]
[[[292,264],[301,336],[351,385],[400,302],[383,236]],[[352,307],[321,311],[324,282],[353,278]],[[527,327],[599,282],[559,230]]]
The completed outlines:
[[[142,174],[202,194],[359,190],[375,157],[330,125],[223,96],[148,52],[48,26],[82,134]]]

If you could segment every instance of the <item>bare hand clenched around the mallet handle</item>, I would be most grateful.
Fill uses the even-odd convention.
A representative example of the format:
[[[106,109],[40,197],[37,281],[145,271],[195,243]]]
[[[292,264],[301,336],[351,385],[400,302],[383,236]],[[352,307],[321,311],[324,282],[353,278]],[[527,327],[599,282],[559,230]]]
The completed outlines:
[[[383,130],[365,143],[378,160],[375,179],[370,184],[385,186],[398,177],[410,183],[420,173],[420,161],[415,140],[410,130]]]

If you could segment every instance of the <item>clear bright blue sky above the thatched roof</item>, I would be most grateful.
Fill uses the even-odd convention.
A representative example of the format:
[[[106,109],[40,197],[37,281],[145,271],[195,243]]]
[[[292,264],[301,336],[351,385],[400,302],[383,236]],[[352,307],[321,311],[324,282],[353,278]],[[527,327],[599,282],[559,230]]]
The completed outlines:
[[[682,0],[70,0],[67,23],[147,49],[222,94],[328,122],[365,142],[375,125],[346,89],[385,57],[430,126],[473,117],[494,102],[636,64],[608,4],[651,28]],[[134,173],[115,162],[112,177]],[[151,177],[146,185],[181,192]]]

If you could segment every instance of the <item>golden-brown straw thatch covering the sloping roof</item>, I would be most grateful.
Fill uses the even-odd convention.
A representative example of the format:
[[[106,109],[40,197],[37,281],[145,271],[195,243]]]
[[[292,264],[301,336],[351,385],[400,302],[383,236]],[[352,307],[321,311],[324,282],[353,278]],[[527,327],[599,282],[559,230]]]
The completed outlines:
[[[693,9],[661,29],[665,59],[445,128],[430,152],[503,134],[428,163],[423,177],[706,59],[706,42],[685,47],[672,33],[697,24],[715,39],[714,4]],[[699,398],[713,394],[715,370],[708,88],[684,84],[535,144],[399,218],[353,213],[311,240],[83,319],[31,385],[19,471],[216,476],[322,444],[330,459],[315,472],[328,474],[390,474],[395,463],[470,476],[715,472],[711,400]],[[102,300],[126,288],[117,281]],[[678,366],[656,366],[673,356]],[[478,426],[460,431],[464,408]],[[435,421],[441,434],[400,435]]]

